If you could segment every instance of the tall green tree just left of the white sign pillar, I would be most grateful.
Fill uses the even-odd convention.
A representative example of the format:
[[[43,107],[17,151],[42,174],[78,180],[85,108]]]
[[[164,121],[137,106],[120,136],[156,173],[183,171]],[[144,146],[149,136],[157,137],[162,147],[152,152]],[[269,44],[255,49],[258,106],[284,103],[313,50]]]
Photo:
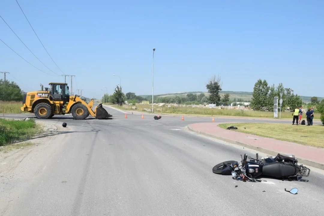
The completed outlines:
[[[262,110],[267,109],[268,106],[268,94],[270,87],[268,86],[268,82],[266,80],[259,79],[253,88],[252,100],[251,100],[251,108],[254,110]]]

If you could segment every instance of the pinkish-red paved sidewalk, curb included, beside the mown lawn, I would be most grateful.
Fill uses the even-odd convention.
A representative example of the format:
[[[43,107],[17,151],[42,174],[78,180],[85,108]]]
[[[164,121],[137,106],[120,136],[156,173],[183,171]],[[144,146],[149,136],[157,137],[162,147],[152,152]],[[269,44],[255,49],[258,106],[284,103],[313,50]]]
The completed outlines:
[[[324,170],[324,149],[226,130],[218,127],[218,124],[220,123],[195,123],[188,125],[188,129],[270,155],[294,154],[298,163]]]

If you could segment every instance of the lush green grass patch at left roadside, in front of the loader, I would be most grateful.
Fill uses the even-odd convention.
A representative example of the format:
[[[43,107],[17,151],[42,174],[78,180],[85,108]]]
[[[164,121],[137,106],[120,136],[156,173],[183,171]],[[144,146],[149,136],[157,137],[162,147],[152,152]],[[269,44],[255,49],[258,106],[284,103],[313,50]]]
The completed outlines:
[[[0,119],[0,146],[31,138],[40,130],[41,128],[36,124],[35,119],[27,121]]]

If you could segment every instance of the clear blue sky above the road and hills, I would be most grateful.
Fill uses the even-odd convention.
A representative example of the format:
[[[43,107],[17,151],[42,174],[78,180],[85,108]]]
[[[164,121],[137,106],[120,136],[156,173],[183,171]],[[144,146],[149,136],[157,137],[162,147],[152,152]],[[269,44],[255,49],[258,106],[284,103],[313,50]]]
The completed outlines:
[[[91,3],[90,3],[91,2]],[[266,79],[303,96],[324,97],[324,1],[41,1],[19,0],[53,60],[73,77],[73,91],[112,94],[206,91],[212,75],[223,90],[253,91]],[[52,62],[16,0],[2,0],[0,15],[52,71]],[[25,91],[62,82],[0,19],[0,71]],[[2,74],[0,74],[2,75]],[[70,85],[70,78],[68,78]],[[106,90],[105,90],[106,91]]]

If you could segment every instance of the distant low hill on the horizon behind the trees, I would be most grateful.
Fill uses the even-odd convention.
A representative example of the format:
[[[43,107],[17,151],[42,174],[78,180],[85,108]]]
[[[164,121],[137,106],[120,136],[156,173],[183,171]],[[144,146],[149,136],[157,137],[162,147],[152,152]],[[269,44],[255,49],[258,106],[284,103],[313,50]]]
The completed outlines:
[[[154,95],[155,97],[186,97],[188,93],[192,94],[205,94],[209,95],[208,92],[176,92],[176,93],[169,93],[169,94],[163,94],[163,95]],[[241,98],[243,101],[250,101],[252,99],[252,92],[234,92],[234,91],[221,91],[220,95],[223,97],[224,94],[229,94],[230,95],[230,100],[233,100],[234,98],[239,99]],[[152,98],[152,95],[140,95],[144,98]],[[313,97],[313,96],[311,96]],[[310,103],[310,96],[300,96],[300,98],[303,100],[304,103]],[[318,97],[318,100],[321,101],[324,99],[324,97]]]

